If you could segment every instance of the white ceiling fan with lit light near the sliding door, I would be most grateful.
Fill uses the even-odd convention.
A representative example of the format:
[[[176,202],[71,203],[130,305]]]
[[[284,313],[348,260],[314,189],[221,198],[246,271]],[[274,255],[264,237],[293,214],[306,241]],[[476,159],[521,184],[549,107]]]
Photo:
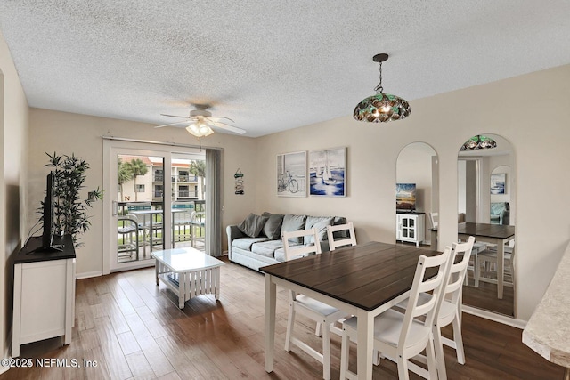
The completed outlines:
[[[208,106],[197,105],[195,107],[196,109],[192,109],[190,111],[189,116],[160,114],[161,116],[179,117],[183,118],[184,120],[179,121],[177,123],[157,125],[155,126],[155,128],[162,128],[163,126],[175,126],[175,125],[190,123],[189,125],[186,126],[186,131],[188,131],[188,133],[191,133],[196,137],[206,137],[214,133],[214,130],[212,130],[211,128],[212,126],[214,126],[215,128],[220,128],[226,131],[230,131],[232,133],[238,133],[238,134],[246,133],[245,130],[238,128],[237,126],[233,126],[225,123],[224,121],[221,121],[223,119],[223,120],[229,120],[232,123],[234,123],[234,121],[230,117],[212,117],[212,112],[208,111]]]

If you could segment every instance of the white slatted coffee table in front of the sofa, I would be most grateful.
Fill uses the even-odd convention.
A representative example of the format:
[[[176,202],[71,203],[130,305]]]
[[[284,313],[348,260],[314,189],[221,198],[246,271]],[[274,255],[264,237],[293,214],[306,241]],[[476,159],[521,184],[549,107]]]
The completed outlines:
[[[162,281],[178,295],[178,307],[197,295],[220,295],[220,267],[224,262],[198,249],[174,248],[151,252],[157,260],[157,286]]]

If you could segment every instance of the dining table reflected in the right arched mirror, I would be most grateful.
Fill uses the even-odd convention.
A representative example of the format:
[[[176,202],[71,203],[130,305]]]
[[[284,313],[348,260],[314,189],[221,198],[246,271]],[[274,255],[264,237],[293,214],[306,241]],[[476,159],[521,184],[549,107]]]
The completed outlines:
[[[476,241],[497,245],[497,298],[502,299],[505,277],[505,244],[515,239],[515,226],[465,222],[459,223],[457,233],[460,239],[468,239],[469,236],[474,236]]]

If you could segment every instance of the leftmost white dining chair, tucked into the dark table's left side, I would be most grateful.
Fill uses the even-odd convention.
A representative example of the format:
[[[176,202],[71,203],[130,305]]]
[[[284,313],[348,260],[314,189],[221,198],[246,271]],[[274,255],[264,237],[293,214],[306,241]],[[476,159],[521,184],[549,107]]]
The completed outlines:
[[[314,244],[301,245],[296,243],[299,238],[312,236]],[[283,232],[281,234],[286,260],[298,259],[306,255],[320,255],[321,244],[316,229],[296,230]],[[293,240],[293,241],[292,241]],[[315,334],[321,336],[322,332],[322,352],[318,352],[310,345],[293,336],[295,317],[297,312],[307,318],[313,319],[317,325]],[[287,333],[285,336],[285,351],[290,351],[290,344],[297,345],[298,348],[311,355],[315,360],[322,363],[322,378],[330,379],[330,325],[345,316],[344,311],[340,311],[326,303],[317,301],[306,295],[297,295],[293,290],[289,290],[289,316],[287,319]]]

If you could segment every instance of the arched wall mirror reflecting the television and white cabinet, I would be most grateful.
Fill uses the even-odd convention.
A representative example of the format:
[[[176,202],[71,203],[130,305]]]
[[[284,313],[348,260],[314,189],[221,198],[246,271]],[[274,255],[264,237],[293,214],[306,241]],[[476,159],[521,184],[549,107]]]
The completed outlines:
[[[428,246],[429,214],[438,210],[438,160],[425,142],[412,142],[396,161],[396,242]]]

